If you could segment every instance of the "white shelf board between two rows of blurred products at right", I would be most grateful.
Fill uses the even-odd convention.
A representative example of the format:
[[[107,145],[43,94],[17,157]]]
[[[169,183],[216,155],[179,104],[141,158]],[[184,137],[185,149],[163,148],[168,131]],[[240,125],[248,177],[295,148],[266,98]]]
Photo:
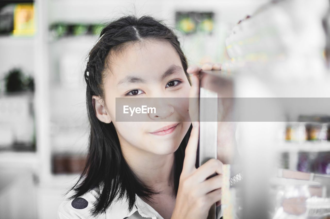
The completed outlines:
[[[330,152],[330,142],[283,142],[276,148],[279,152]]]

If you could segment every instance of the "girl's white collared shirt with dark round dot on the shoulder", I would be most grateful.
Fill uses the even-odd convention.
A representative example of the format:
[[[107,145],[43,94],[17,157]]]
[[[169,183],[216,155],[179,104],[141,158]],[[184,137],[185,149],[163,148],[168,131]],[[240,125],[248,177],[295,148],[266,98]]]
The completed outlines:
[[[72,195],[72,191],[69,193]],[[148,203],[144,202],[138,195],[136,195],[136,202],[132,211],[128,211],[128,202],[124,198],[123,200],[117,200],[111,204],[106,213],[99,215],[98,217],[92,217],[90,215],[93,208],[93,202],[100,195],[100,187],[97,186],[84,195],[74,200],[65,200],[61,203],[57,211],[58,219],[75,219],[75,218],[97,218],[97,219],[124,219],[131,216],[136,211],[142,216],[142,218],[151,219],[164,219],[160,214],[153,209]],[[219,219],[222,216],[220,208],[217,207]]]

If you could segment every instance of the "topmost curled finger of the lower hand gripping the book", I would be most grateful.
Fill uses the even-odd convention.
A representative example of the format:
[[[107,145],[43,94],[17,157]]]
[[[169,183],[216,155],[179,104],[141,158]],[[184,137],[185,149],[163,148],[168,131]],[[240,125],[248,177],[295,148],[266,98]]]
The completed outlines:
[[[198,182],[203,182],[214,173],[222,174],[222,162],[218,159],[212,158],[206,161],[203,165],[197,168],[196,179]]]

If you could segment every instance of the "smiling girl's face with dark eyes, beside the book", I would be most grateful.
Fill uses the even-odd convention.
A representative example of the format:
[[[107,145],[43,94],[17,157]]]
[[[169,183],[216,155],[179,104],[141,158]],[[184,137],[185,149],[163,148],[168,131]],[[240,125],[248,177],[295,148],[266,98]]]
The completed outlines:
[[[111,72],[108,69],[104,80],[106,122],[114,123],[121,147],[158,155],[174,153],[191,124],[190,84],[176,50],[168,42],[146,40],[111,56],[109,65]],[[143,115],[145,122],[116,122],[116,97],[157,97],[159,101],[156,113]],[[178,102],[169,97],[185,98]],[[97,116],[104,120],[105,115]],[[168,125],[176,126],[170,133],[154,133]]]

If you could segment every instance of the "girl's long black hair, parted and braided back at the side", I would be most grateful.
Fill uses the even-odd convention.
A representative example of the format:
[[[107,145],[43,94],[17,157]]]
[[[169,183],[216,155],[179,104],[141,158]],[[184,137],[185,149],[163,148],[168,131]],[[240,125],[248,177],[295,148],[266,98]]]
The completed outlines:
[[[140,18],[129,15],[109,23],[101,32],[99,41],[89,52],[87,66],[84,72],[86,88],[86,106],[90,123],[89,149],[86,166],[76,184],[67,192],[74,190],[69,199],[82,196],[100,183],[103,189],[94,203],[91,214],[96,216],[106,212],[115,198],[126,198],[129,211],[135,204],[137,194],[145,200],[150,200],[152,194],[159,193],[145,185],[131,170],[123,158],[116,128],[111,123],[103,123],[95,116],[92,96],[104,99],[103,78],[106,72],[108,57],[124,48],[127,43],[141,42],[145,39],[169,42],[178,53],[182,68],[191,85],[187,74],[187,60],[184,56],[178,37],[163,21],[144,15]],[[184,150],[187,145],[192,126],[190,125],[174,158],[174,189],[178,192],[179,179],[182,172]]]

